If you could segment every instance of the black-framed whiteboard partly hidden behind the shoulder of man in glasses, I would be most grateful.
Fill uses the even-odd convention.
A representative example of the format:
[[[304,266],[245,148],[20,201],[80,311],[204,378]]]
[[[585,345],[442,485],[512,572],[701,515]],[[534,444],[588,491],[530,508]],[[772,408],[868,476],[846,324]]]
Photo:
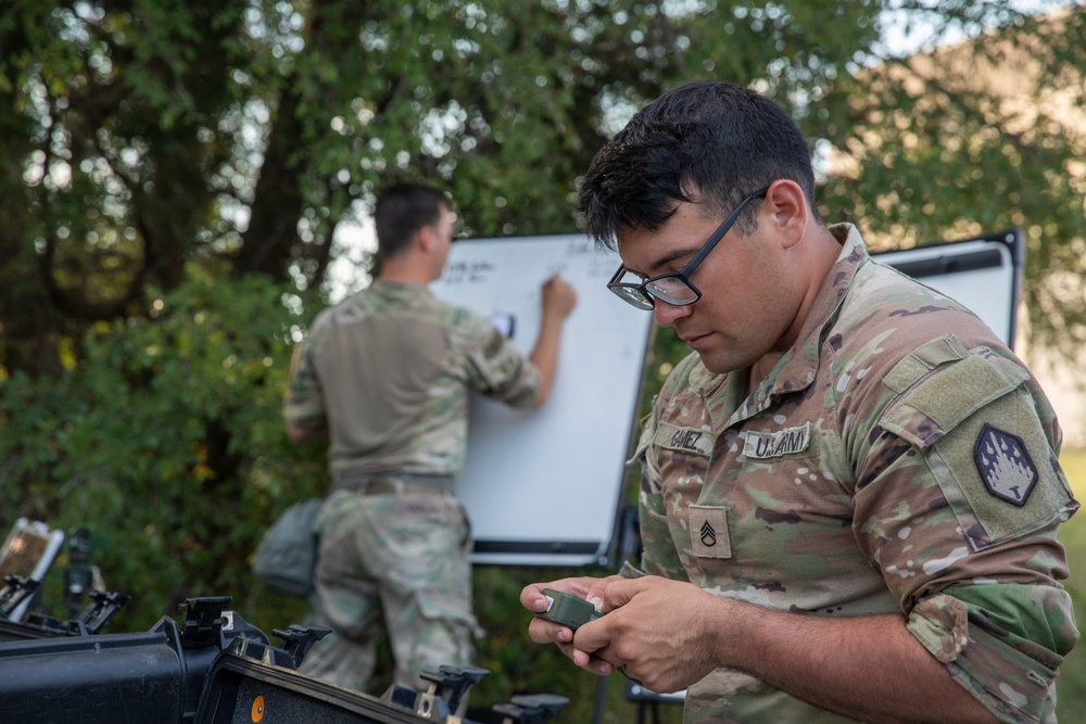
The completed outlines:
[[[1014,348],[1025,261],[1022,229],[871,256],[965,305]]]

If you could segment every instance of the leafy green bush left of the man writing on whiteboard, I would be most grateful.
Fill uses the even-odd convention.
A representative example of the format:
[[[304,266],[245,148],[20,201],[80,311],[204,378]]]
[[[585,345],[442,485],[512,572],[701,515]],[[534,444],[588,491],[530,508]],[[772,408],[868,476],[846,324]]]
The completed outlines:
[[[279,417],[281,296],[192,267],[152,316],[99,325],[60,379],[0,382],[0,525],[89,528],[106,587],[134,596],[128,627],[189,596],[245,600],[267,521],[324,488],[321,450],[290,449]]]

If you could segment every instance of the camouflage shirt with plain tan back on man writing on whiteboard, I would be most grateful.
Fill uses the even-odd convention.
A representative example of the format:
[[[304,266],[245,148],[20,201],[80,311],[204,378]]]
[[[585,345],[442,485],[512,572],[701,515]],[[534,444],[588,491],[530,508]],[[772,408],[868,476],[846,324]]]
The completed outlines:
[[[317,315],[295,352],[283,419],[328,428],[333,475],[456,478],[469,390],[530,407],[538,388],[539,372],[485,318],[378,279]]]

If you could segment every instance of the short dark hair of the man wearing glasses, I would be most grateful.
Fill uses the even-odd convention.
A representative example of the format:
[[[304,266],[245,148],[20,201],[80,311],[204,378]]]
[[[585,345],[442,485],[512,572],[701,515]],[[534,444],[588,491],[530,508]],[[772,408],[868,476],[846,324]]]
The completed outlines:
[[[643,107],[596,153],[578,211],[589,236],[614,247],[621,229],[658,229],[680,202],[724,215],[778,179],[798,183],[822,224],[810,151],[784,109],[734,84],[698,80]],[[735,225],[740,233],[755,228],[750,208]]]

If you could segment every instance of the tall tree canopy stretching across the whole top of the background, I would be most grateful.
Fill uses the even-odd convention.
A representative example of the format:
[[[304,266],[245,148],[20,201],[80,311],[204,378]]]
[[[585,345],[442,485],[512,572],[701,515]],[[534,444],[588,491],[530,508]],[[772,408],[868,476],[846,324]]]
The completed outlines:
[[[857,162],[828,179],[830,218],[905,243],[1027,226],[1031,329],[1082,341],[1082,301],[1046,282],[1082,258],[1082,122],[1051,99],[1081,113],[1083,8],[623,5],[15,2],[0,18],[0,368],[56,374],[93,322],[146,313],[147,289],[175,288],[189,261],[320,287],[337,225],[394,178],[447,188],[465,233],[574,229],[595,149],[644,99],[705,76],[756,84]],[[968,42],[921,67],[882,42],[900,18]],[[1005,103],[969,82],[981,66],[1045,81]]]

